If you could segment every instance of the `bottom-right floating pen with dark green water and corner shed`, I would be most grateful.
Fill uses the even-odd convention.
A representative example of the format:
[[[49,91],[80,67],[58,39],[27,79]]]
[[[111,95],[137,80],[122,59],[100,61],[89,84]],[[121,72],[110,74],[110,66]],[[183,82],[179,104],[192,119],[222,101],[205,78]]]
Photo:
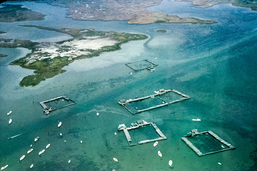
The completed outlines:
[[[221,139],[211,130],[199,133],[197,129],[193,129],[181,139],[194,150],[198,156],[235,149],[233,145]]]

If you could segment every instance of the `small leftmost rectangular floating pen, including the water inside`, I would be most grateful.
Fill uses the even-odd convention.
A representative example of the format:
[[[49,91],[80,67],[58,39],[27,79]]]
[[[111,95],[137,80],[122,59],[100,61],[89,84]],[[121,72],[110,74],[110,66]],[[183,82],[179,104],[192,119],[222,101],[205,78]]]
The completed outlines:
[[[66,96],[60,96],[40,102],[40,105],[44,108],[43,111],[45,114],[48,114],[52,110],[56,110],[73,104],[76,104],[76,102],[67,98]]]

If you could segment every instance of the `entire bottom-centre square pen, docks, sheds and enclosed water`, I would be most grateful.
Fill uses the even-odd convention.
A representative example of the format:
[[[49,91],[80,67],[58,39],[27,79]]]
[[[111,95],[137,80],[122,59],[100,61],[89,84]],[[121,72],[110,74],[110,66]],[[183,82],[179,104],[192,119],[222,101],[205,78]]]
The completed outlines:
[[[130,127],[121,124],[118,126],[118,130],[123,130],[130,146],[137,145],[138,140],[138,144],[144,144],[167,139],[154,123],[146,122],[144,120],[138,120],[136,123],[131,123]],[[131,137],[133,137],[133,139]]]

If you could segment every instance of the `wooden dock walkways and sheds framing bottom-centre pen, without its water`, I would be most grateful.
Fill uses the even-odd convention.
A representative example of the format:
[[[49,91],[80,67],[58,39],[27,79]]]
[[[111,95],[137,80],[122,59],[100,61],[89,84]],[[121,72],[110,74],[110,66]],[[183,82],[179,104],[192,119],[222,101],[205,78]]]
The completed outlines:
[[[138,142],[138,144],[144,144],[144,143],[149,143],[149,142],[153,142],[153,141],[167,139],[167,137],[161,132],[161,130],[154,123],[145,122],[144,120],[138,120],[137,123],[132,123],[130,127],[126,127],[125,124],[119,125],[118,130],[123,130],[124,131],[124,134],[127,138],[128,144],[130,146],[133,146],[133,145],[136,145],[136,143],[132,143],[132,139],[131,139],[130,134],[128,133],[128,130],[136,129],[136,128],[139,128],[141,126],[144,127],[146,125],[153,126],[153,128],[155,129],[155,131],[157,132],[157,134],[160,137],[154,138],[154,139],[142,140],[142,141]]]

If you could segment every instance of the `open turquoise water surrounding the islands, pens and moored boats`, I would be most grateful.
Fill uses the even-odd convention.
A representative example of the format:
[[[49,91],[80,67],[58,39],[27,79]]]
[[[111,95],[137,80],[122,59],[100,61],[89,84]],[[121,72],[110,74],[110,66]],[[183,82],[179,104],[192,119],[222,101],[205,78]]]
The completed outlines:
[[[41,10],[36,3],[23,4]],[[66,10],[50,9],[48,5],[44,8],[48,9],[49,16],[53,16],[54,11],[63,14]],[[162,7],[162,10],[167,9]],[[197,10],[197,15],[205,16],[212,10],[210,19],[217,19],[218,23],[128,25],[125,21],[78,21],[61,15],[59,20],[48,16],[43,21],[22,22],[54,28],[141,33],[149,35],[149,39],[124,44],[120,51],[75,61],[64,68],[67,72],[35,87],[19,86],[24,76],[33,74],[32,70],[8,65],[29,51],[0,48],[1,53],[8,54],[0,58],[0,166],[8,164],[8,170],[29,170],[31,164],[34,170],[170,170],[168,161],[173,160],[176,170],[254,170],[257,13],[229,4]],[[220,16],[220,11],[224,16]],[[8,31],[20,23],[0,24],[2,31]],[[19,28],[23,32],[29,29]],[[157,33],[158,29],[165,29],[167,33]],[[29,29],[31,35],[36,35],[38,30]],[[27,37],[15,29],[10,32],[12,38]],[[30,39],[66,38],[56,32],[46,31],[47,36],[43,33]],[[155,71],[134,72],[125,66],[141,59],[158,63]],[[191,98],[135,115],[117,103],[124,98],[151,95],[161,88],[174,88]],[[61,95],[77,104],[44,115],[39,102]],[[13,113],[7,117],[10,110]],[[8,125],[10,118],[13,123]],[[194,122],[193,118],[201,121]],[[130,125],[140,119],[154,121],[168,139],[159,141],[156,149],[153,143],[130,147],[117,126]],[[59,121],[62,122],[60,128],[57,127]],[[195,128],[200,132],[212,130],[236,149],[198,157],[180,139]],[[37,136],[40,139],[34,143]],[[48,142],[51,146],[40,157],[38,153]],[[31,144],[34,150],[26,154]],[[162,152],[162,159],[158,150]],[[26,157],[19,162],[24,154]]]

